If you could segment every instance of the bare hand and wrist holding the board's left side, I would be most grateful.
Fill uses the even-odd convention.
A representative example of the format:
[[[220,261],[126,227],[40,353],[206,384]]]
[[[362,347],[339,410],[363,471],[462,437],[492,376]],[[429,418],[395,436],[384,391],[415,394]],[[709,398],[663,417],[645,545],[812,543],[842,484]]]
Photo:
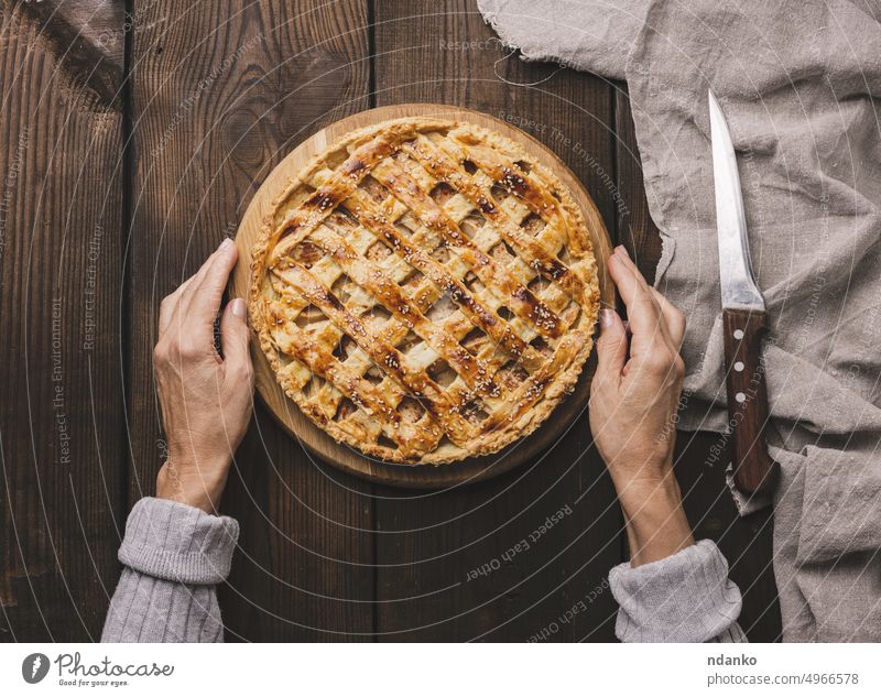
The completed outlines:
[[[244,301],[220,316],[221,358],[214,323],[238,252],[222,244],[202,269],[162,301],[153,350],[168,458],[156,477],[156,497],[217,510],[232,455],[253,407],[253,367]]]

